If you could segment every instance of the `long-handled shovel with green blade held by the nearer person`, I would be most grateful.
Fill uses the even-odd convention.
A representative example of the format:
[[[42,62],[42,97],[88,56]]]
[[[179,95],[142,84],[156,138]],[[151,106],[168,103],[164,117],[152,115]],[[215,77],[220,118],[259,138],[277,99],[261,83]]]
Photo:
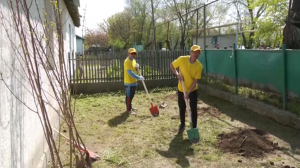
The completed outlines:
[[[188,116],[189,116],[189,120],[190,120],[190,129],[187,130],[188,138],[189,138],[189,141],[191,143],[197,143],[200,140],[199,130],[198,130],[198,128],[193,128],[190,105],[188,104],[187,99],[185,99],[186,92],[185,92],[184,82],[183,81],[180,81],[180,82],[181,82],[181,86],[182,86],[182,89],[183,89],[185,105],[188,108]]]

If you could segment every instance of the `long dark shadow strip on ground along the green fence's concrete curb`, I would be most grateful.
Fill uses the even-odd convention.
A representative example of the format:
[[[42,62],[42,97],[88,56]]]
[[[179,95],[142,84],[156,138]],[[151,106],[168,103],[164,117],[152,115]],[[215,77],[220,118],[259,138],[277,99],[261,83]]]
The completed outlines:
[[[218,108],[223,114],[231,118],[231,122],[237,120],[282,139],[289,143],[292,154],[299,155],[297,151],[300,150],[300,130],[287,127],[268,117],[261,116],[251,110],[233,105],[228,101],[218,99],[205,93],[199,94],[199,98],[204,103]],[[230,123],[227,124],[231,125]]]

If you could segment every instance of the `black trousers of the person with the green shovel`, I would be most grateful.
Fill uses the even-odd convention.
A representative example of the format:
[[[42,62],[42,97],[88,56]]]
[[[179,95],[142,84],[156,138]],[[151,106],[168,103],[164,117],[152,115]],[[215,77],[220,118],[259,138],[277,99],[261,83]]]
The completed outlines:
[[[193,128],[197,128],[197,97],[198,97],[197,90],[192,91],[189,95],[190,108],[192,111]],[[184,94],[183,92],[180,91],[178,91],[178,106],[179,106],[179,113],[180,113],[180,122],[181,125],[184,126],[186,104],[184,100]]]

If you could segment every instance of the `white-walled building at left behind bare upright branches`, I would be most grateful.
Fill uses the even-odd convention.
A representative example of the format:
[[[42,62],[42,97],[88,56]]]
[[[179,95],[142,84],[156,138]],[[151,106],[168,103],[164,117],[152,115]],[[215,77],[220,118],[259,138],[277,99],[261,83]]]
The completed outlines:
[[[24,1],[12,1],[12,3],[18,2],[20,5]],[[29,2],[29,1],[27,1]],[[31,2],[31,1],[30,1]],[[38,113],[32,112],[31,109],[38,109],[35,104],[35,99],[32,90],[30,89],[27,75],[33,75],[24,71],[22,67],[22,60],[19,60],[20,54],[16,52],[20,45],[20,41],[29,39],[20,39],[16,27],[13,27],[13,11],[16,8],[11,9],[10,1],[0,1],[0,167],[1,168],[36,168],[46,167],[48,146],[44,138],[44,132]],[[63,45],[64,45],[64,60],[68,60],[68,54],[76,52],[75,47],[75,26],[80,26],[80,18],[78,13],[79,0],[58,0],[59,9],[61,10],[61,23],[63,23]],[[12,6],[15,6],[13,4]],[[34,30],[36,33],[43,35],[44,20],[53,19],[53,5],[50,0],[38,0],[33,3],[27,4],[29,8],[30,18],[29,20],[34,23]],[[30,7],[29,7],[30,6]],[[24,6],[22,6],[24,8]],[[23,10],[20,7],[20,10]],[[21,20],[26,23],[25,13],[20,12]],[[15,17],[19,17],[15,15]],[[49,37],[44,40],[49,40],[49,45],[46,45],[44,41],[41,45],[45,50],[38,50],[38,53],[47,53],[49,55],[49,69],[53,70],[53,66],[56,65],[56,54],[50,54],[50,47],[57,47],[56,43],[51,41],[51,38],[55,37],[55,30],[51,26],[49,28]],[[26,30],[25,30],[26,31]],[[30,35],[30,33],[28,33]],[[10,38],[9,38],[10,37]],[[29,36],[30,37],[30,36]],[[48,37],[48,36],[47,36]],[[31,45],[31,46],[30,46]],[[36,44],[37,45],[37,44]],[[35,45],[34,45],[35,46]],[[32,44],[29,44],[29,48],[34,48]],[[68,61],[67,61],[68,62]],[[69,69],[70,65],[67,64]],[[46,69],[44,69],[46,71]],[[51,97],[53,92],[45,72],[41,71],[41,87],[43,90],[49,92],[49,95],[45,95],[49,103],[55,104],[55,101]],[[25,105],[26,104],[26,105]],[[48,117],[51,126],[58,127],[60,118],[58,114],[51,110],[49,106]],[[57,105],[53,108],[57,108]],[[36,110],[38,111],[38,110]]]

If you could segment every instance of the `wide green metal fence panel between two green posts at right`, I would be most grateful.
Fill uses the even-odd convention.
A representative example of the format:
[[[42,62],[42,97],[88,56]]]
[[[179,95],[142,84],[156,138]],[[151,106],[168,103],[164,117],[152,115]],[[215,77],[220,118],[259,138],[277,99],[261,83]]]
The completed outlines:
[[[281,50],[237,50],[238,77],[272,85],[282,93],[282,61]]]

